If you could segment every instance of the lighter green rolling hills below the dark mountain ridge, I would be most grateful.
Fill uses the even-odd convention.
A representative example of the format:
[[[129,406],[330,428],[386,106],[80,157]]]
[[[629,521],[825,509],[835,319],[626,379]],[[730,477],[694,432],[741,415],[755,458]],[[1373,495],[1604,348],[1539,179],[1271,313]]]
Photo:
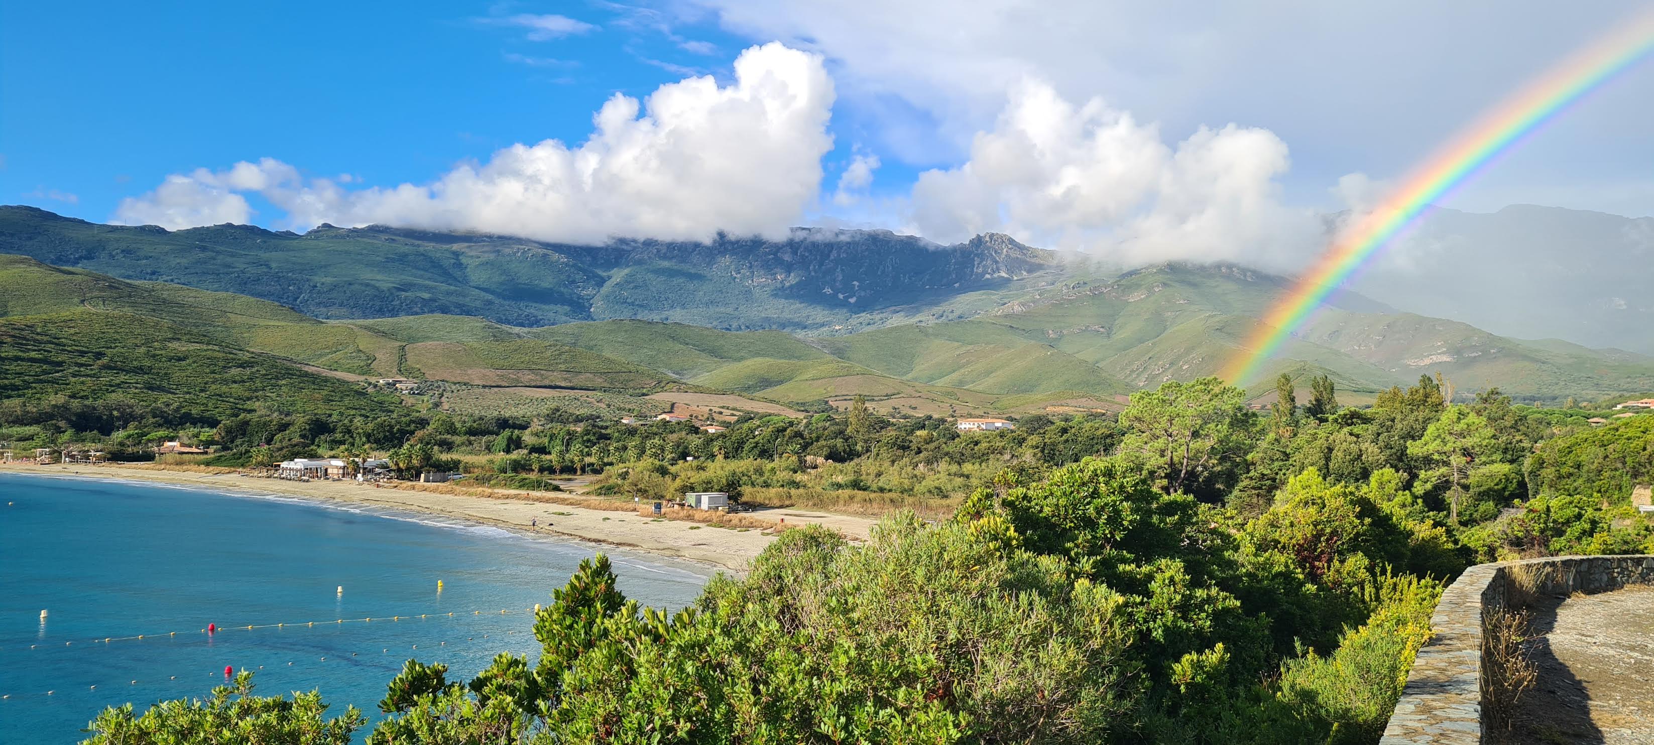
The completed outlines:
[[[453,251],[461,238],[476,238],[447,236],[448,243],[442,243],[442,235],[404,235],[443,251]],[[979,249],[992,253],[992,246]],[[607,266],[604,276],[624,279],[637,269],[667,266],[662,244],[640,243],[630,251],[648,263]],[[736,276],[734,268],[719,264],[719,256],[728,254],[718,251],[700,246],[690,253],[710,259],[708,266],[723,266],[701,269],[701,276]],[[974,317],[887,327],[868,320],[873,327],[853,334],[796,337],[640,319],[547,327],[453,314],[318,320],[270,301],[124,281],[23,256],[0,256],[0,279],[3,316],[96,311],[157,319],[223,347],[337,373],[627,395],[693,385],[789,405],[842,405],[863,395],[898,411],[930,413],[1060,408],[1065,405],[1057,401],[1064,400],[1082,401],[1077,408],[1107,408],[1113,396],[1136,388],[1216,375],[1244,354],[1257,319],[1287,291],[1285,279],[1239,266],[1171,263],[1118,276],[1092,268],[1062,281],[1047,274],[1022,278],[1016,291],[961,294],[976,304]],[[695,301],[696,292],[723,279],[708,282],[680,287],[673,302]],[[625,287],[624,281],[610,282],[595,296]],[[786,299],[787,292],[769,297]],[[986,302],[984,294],[997,294],[999,304]],[[753,294],[721,297],[759,302]],[[706,302],[701,311],[723,307]],[[762,309],[753,316],[761,317]],[[1280,372],[1295,378],[1330,375],[1356,400],[1437,372],[1460,391],[1497,385],[1532,400],[1594,400],[1654,388],[1654,360],[1647,357],[1499,337],[1467,324],[1398,312],[1356,294],[1336,296],[1240,383],[1262,396]]]

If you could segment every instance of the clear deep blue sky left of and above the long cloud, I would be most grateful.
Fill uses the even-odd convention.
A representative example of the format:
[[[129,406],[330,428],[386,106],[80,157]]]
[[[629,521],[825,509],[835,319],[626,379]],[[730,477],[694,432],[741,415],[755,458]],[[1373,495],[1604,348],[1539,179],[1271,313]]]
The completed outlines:
[[[556,10],[594,28],[531,40],[533,28],[508,21]],[[203,165],[276,157],[367,183],[425,182],[513,142],[581,140],[612,94],[728,76],[751,45],[715,23],[662,30],[625,8],[571,3],[7,3],[3,13],[0,202],[94,221],[165,173]]]

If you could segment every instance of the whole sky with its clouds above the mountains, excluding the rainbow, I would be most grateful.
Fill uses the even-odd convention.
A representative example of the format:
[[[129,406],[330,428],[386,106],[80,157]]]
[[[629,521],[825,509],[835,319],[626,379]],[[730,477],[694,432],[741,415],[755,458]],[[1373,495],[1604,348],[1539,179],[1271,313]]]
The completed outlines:
[[[1634,5],[5,3],[0,202],[94,221],[245,213],[547,240],[1004,230],[1131,258],[1285,261],[1308,216],[1381,193]],[[771,50],[738,81],[743,50],[769,41],[810,63]],[[700,74],[718,91],[678,86]],[[615,142],[579,147],[612,96],[662,86],[691,101],[678,119],[645,109]],[[1654,213],[1651,88],[1654,73],[1632,71],[1449,206]],[[751,119],[787,96],[807,101],[784,126]],[[574,150],[493,160],[546,139]],[[230,175],[260,159],[275,159],[258,173],[275,187]],[[867,180],[839,193],[857,159]],[[483,173],[457,170],[468,160]],[[536,216],[592,160],[589,193]],[[547,164],[564,180],[539,182]],[[442,185],[455,173],[486,188],[455,197]],[[169,178],[200,203],[167,203]],[[524,183],[533,193],[501,206]],[[357,193],[399,185],[417,193]],[[590,218],[569,231],[567,215]]]

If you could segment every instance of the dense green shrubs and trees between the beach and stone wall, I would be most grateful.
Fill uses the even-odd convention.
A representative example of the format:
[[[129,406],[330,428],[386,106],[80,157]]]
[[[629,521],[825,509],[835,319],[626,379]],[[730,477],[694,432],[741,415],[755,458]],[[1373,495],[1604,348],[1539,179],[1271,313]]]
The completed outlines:
[[[1284,383],[1259,415],[1217,380],[1168,383],[1118,421],[978,434],[862,410],[719,434],[437,415],[245,416],[213,436],[400,436],[490,458],[481,482],[602,472],[622,497],[948,505],[865,545],[787,532],[672,616],[584,565],[536,618],[534,666],[501,656],[461,686],[410,661],[369,740],[385,745],[1371,743],[1465,565],[1654,550],[1628,499],[1654,474],[1654,416],[1591,428],[1497,390],[1449,405],[1431,378],[1371,410],[1312,388],[1298,408]]]

